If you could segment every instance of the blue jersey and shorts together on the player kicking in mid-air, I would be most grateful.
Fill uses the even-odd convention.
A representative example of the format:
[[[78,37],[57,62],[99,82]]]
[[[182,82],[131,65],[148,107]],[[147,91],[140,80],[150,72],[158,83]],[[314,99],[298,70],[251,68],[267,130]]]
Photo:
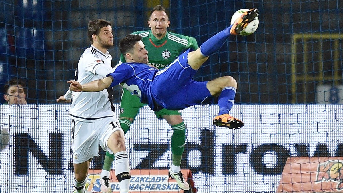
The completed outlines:
[[[206,88],[207,82],[192,80],[197,71],[188,64],[188,52],[161,70],[142,63],[122,63],[107,75],[113,78],[110,87],[120,84],[154,111],[163,108],[182,110],[196,104],[208,104],[212,96]]]

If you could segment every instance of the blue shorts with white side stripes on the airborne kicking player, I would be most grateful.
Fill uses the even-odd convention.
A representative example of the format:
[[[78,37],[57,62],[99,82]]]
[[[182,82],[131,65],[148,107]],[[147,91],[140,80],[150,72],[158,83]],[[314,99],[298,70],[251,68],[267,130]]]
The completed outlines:
[[[178,56],[173,63],[156,73],[151,85],[155,102],[169,110],[181,110],[196,104],[209,104],[212,99],[206,82],[192,80],[197,70],[192,69],[186,52]]]

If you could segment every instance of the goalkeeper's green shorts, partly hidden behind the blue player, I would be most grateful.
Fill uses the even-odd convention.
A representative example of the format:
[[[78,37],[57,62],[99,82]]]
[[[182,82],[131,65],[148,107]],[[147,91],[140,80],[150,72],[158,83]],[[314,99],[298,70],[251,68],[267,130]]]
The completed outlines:
[[[121,95],[120,100],[119,118],[127,117],[134,120],[134,117],[137,116],[139,109],[144,105],[147,104],[141,103],[141,99],[138,96],[134,96],[128,90],[123,89],[123,94]],[[171,111],[167,109],[155,111],[155,114],[158,119],[162,119],[163,115],[181,115],[179,111]]]

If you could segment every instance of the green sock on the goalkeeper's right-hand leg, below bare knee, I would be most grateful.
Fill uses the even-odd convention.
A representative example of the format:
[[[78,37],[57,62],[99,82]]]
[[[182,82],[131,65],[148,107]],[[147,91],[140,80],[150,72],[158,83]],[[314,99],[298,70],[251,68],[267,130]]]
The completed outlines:
[[[172,125],[171,128],[174,130],[171,136],[171,160],[175,166],[180,166],[185,147],[186,125],[182,122],[177,125]]]

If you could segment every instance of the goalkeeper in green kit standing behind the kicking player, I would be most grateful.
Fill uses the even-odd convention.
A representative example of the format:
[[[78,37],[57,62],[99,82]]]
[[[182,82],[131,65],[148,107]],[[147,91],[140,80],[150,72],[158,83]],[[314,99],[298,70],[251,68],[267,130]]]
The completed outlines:
[[[145,49],[149,52],[150,65],[162,69],[172,63],[184,50],[188,48],[198,49],[198,44],[194,38],[167,31],[167,27],[170,24],[169,16],[161,5],[157,5],[152,9],[148,24],[151,30],[138,31],[132,34],[142,36]],[[126,62],[123,55],[121,55],[120,60],[118,65]],[[139,109],[144,105],[146,104],[141,103],[139,97],[123,89],[119,122],[125,133],[128,132]],[[186,139],[186,125],[178,111],[162,109],[161,111],[155,112],[155,114],[157,118],[164,118],[173,129],[173,135],[171,136],[172,164],[169,169],[169,175],[176,180],[180,189],[189,190],[189,184],[182,175],[180,168],[181,156],[184,151]],[[114,155],[106,152],[103,171],[100,175],[100,190],[103,193],[112,192],[111,186],[109,185],[109,171],[113,161]]]

